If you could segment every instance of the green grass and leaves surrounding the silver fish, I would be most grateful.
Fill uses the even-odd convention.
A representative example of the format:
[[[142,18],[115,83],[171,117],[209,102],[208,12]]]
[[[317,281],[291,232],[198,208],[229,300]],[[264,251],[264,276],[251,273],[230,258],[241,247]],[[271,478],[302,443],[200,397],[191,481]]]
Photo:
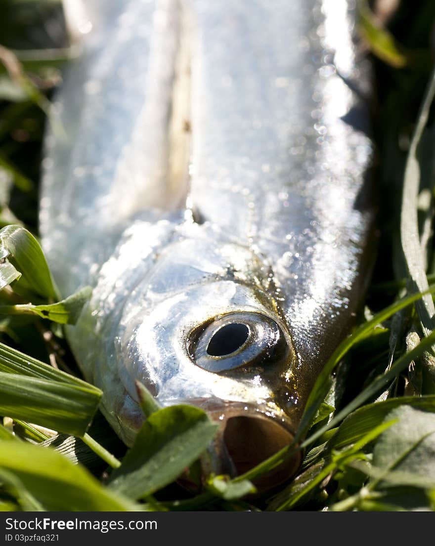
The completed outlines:
[[[299,443],[244,476],[204,483],[197,461],[215,431],[204,412],[160,408],[138,385],[148,420],[127,450],[98,412],[101,391],[69,352],[61,324],[74,324],[90,292],[59,301],[37,239],[37,201],[46,112],[74,51],[62,42],[56,0],[3,4],[0,509],[434,509],[432,0],[418,10],[403,0],[387,30],[360,3],[377,76],[379,244],[354,331],[314,386]],[[252,481],[300,449],[291,483],[252,494]]]

